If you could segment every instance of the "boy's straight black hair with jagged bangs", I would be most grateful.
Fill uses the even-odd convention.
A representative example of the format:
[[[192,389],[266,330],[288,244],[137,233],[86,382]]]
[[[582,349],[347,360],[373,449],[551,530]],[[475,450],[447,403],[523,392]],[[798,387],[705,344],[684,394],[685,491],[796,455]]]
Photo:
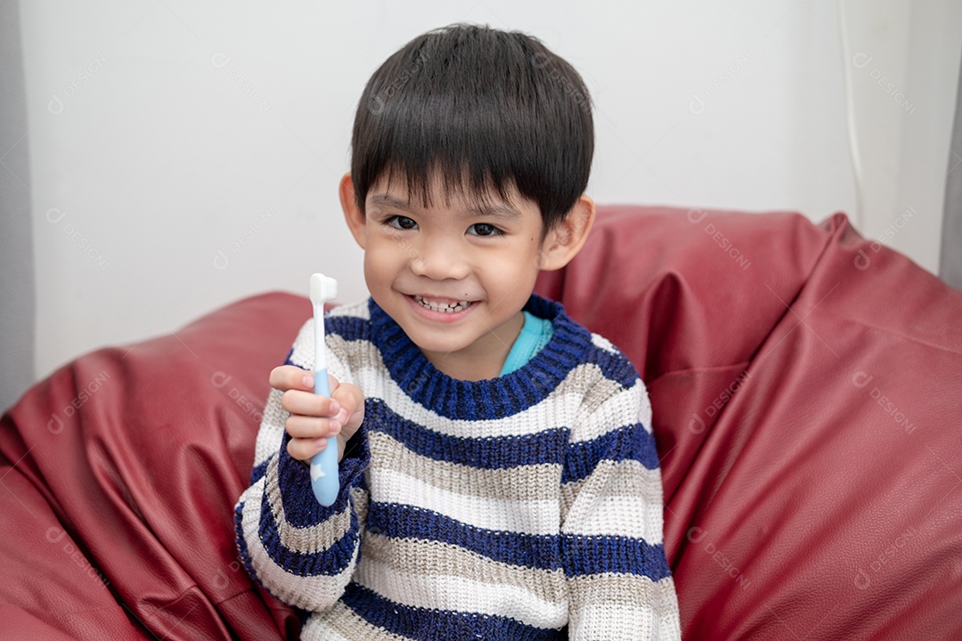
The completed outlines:
[[[588,185],[595,129],[577,71],[535,37],[455,24],[416,37],[367,81],[354,118],[351,176],[365,211],[383,176],[429,202],[429,181],[484,203],[512,186],[544,231]]]

